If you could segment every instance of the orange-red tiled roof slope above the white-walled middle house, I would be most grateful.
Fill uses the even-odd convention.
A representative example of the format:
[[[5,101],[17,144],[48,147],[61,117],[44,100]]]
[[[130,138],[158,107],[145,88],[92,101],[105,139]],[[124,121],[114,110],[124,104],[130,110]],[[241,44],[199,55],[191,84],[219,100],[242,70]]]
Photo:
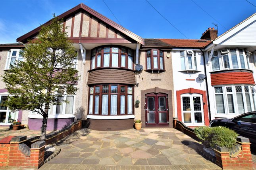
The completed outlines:
[[[203,48],[209,43],[210,40],[186,40],[186,39],[158,39],[162,42],[168,43],[173,47],[195,47],[195,48]]]

